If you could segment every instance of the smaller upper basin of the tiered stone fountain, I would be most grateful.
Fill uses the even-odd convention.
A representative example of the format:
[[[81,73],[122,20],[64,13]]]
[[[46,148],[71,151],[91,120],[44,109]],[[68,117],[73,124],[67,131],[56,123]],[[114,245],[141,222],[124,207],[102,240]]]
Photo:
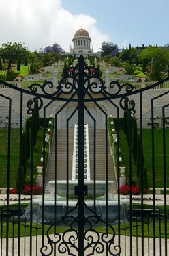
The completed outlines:
[[[68,183],[68,198],[76,199],[78,196],[75,195],[75,188],[78,187],[78,180],[71,180]],[[94,181],[84,181],[84,186],[87,186],[87,195],[84,195],[84,199],[93,199],[94,191],[95,198],[105,196],[106,194],[106,181],[95,181],[95,190],[94,190]],[[54,198],[55,194],[55,181],[49,181],[48,187],[50,190],[51,196]],[[56,181],[57,195],[67,198],[67,181]],[[114,182],[108,181],[108,191],[113,190]],[[113,192],[113,191],[112,191]]]

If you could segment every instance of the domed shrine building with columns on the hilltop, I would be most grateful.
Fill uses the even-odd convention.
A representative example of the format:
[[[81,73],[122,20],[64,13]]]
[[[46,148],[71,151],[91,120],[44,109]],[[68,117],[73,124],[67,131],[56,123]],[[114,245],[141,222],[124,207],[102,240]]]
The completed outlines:
[[[87,57],[88,55],[96,55],[100,57],[100,53],[94,53],[93,47],[91,49],[91,38],[89,36],[89,33],[87,30],[78,29],[76,33],[74,34],[73,41],[73,48],[70,47],[70,54],[76,55],[76,57],[79,57],[80,55],[83,55],[84,57]]]

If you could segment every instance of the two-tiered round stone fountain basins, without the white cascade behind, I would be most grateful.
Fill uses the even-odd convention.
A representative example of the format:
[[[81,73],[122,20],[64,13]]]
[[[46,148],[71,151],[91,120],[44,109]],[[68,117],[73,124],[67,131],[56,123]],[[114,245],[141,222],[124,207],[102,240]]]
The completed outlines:
[[[55,203],[55,181],[49,181],[48,189],[50,194],[45,195],[44,199],[44,220],[45,222],[52,223],[54,219],[58,222],[61,220],[61,216],[65,216],[67,213],[67,200],[66,200],[66,184],[67,181],[56,181],[57,195]],[[68,209],[69,211],[74,209],[77,203],[77,196],[75,194],[75,188],[78,185],[78,181],[69,181],[69,199]],[[87,208],[93,210],[94,205],[94,181],[84,181],[84,185],[87,186],[87,195],[84,196],[84,201]],[[118,201],[117,196],[113,194],[114,182],[108,181],[108,220],[115,222],[118,219]],[[96,214],[102,216],[102,220],[106,220],[106,182],[95,181],[95,206]],[[127,199],[121,199],[120,201],[121,220],[125,219],[125,208],[128,205]],[[55,205],[57,207],[55,218]],[[92,215],[89,209],[84,207],[84,215],[87,217]],[[77,216],[78,207],[71,212],[71,216]],[[33,199],[33,220],[42,221],[42,199]]]

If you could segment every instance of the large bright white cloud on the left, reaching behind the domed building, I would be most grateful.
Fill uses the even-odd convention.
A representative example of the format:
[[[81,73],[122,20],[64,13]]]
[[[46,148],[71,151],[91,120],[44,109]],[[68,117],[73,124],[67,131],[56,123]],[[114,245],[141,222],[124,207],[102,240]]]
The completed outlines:
[[[94,51],[99,51],[104,40],[108,41],[108,36],[97,29],[93,17],[71,14],[63,9],[61,0],[5,0],[0,16],[0,45],[24,42],[30,51],[39,51],[57,42],[65,51],[70,51],[74,33],[81,25],[89,31]]]

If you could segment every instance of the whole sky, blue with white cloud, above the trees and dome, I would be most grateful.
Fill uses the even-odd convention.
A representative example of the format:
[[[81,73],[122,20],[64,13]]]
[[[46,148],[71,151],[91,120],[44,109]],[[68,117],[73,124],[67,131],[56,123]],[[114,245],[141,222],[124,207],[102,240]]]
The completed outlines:
[[[29,51],[55,42],[70,51],[75,32],[83,27],[91,47],[102,42],[119,48],[169,43],[168,0],[0,0],[0,46],[22,42]]]

